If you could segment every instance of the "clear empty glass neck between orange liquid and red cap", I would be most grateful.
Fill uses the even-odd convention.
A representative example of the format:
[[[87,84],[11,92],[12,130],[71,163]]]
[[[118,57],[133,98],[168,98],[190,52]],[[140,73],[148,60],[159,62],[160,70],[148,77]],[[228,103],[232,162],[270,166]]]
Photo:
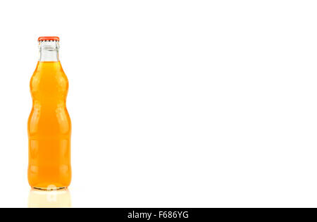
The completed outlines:
[[[57,41],[39,42],[39,61],[59,61]]]

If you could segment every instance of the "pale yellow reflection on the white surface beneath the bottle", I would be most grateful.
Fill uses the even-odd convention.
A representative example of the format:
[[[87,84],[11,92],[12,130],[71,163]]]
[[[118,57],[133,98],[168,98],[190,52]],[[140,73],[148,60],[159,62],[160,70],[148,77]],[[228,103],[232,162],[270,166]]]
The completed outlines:
[[[69,190],[30,190],[29,208],[69,208],[71,206]]]

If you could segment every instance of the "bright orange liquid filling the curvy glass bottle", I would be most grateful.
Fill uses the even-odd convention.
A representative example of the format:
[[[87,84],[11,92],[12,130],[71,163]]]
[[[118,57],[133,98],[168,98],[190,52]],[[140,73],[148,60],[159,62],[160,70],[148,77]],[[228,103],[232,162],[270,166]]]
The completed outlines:
[[[42,190],[70,185],[70,116],[66,109],[68,79],[59,61],[40,61],[32,75],[33,107],[29,135],[28,180]]]

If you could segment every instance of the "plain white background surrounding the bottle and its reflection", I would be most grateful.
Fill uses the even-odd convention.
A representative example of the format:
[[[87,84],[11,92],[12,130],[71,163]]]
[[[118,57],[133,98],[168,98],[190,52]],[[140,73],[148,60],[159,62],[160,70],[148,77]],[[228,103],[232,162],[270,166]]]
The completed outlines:
[[[1,1],[0,206],[30,206],[29,82],[43,35],[61,37],[70,82],[72,206],[317,206],[316,11]]]

